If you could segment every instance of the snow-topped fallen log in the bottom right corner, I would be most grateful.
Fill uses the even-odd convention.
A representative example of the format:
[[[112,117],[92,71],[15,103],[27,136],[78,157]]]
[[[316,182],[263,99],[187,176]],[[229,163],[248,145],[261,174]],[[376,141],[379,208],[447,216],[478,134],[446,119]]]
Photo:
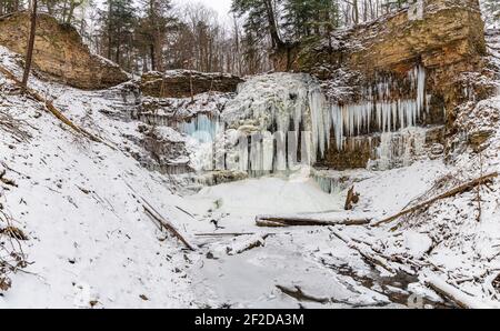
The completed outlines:
[[[438,294],[448,298],[464,309],[492,309],[494,307],[487,304],[472,295],[469,295],[453,285],[450,285],[438,275],[430,275],[426,279],[426,284]]]

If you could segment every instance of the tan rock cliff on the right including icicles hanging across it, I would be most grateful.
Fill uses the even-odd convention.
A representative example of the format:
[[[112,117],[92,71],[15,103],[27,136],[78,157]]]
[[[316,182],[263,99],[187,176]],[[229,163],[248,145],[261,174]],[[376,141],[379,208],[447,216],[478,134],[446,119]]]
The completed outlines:
[[[457,107],[494,89],[484,83],[491,74],[486,54],[478,0],[419,0],[331,40],[287,46],[273,60],[279,71],[321,80],[337,124],[318,165],[344,170],[409,151],[442,151]],[[427,133],[408,136],[410,127]]]

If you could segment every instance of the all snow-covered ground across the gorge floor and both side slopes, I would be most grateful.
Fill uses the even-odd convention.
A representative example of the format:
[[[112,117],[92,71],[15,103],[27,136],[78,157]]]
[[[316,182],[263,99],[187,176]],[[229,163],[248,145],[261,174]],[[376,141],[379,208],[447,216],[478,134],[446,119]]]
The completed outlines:
[[[3,48],[0,64],[20,74]],[[136,143],[142,123],[120,101],[123,89],[80,91],[37,78],[30,86],[107,144],[72,132],[0,74],[0,173],[14,182],[0,182],[0,229],[9,222],[28,237],[18,242],[0,234],[0,259],[16,251],[28,262],[6,273],[12,287],[0,291],[0,308],[450,304],[426,288],[424,275],[459,288],[467,300],[473,295],[474,303],[498,302],[491,285],[500,272],[498,181],[480,191],[480,218],[476,191],[378,228],[259,228],[256,217],[377,221],[499,170],[499,98],[461,114],[472,131],[493,132],[481,153],[464,147],[448,163],[422,158],[401,169],[358,171],[360,202],[346,212],[346,191],[324,193],[301,175],[178,190],[172,177],[132,157],[143,152]],[[164,134],[183,139],[173,130]],[[144,213],[148,203],[196,251],[160,231]]]

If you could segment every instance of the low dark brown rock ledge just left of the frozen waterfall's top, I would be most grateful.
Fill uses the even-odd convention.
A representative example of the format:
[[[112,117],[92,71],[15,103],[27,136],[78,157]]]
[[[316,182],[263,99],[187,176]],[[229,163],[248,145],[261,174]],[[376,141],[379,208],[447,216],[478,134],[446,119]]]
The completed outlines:
[[[206,92],[236,92],[243,80],[224,73],[204,73],[189,70],[148,72],[142,76],[141,91],[156,98],[188,98]]]

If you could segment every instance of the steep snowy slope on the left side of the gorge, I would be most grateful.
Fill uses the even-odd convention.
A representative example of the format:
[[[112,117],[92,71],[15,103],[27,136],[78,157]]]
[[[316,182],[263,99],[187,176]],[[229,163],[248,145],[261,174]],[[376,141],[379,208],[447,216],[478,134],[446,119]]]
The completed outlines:
[[[9,63],[10,54],[7,59],[2,51],[1,60]],[[30,84],[43,82],[33,79]],[[32,263],[29,273],[11,277],[12,288],[0,297],[0,307],[190,307],[189,259],[144,215],[140,200],[182,224],[187,215],[174,207],[182,201],[164,178],[120,150],[74,134],[38,102],[9,93],[12,84],[1,76],[0,87],[0,111],[21,121],[31,136],[19,142],[0,126],[0,161],[18,185],[2,185],[1,203],[28,235],[22,251]],[[114,137],[130,129],[107,121],[94,103],[80,108],[88,92],[61,93],[71,100],[70,117],[77,122],[92,110],[87,116],[100,126],[89,128],[92,132],[119,142]]]

